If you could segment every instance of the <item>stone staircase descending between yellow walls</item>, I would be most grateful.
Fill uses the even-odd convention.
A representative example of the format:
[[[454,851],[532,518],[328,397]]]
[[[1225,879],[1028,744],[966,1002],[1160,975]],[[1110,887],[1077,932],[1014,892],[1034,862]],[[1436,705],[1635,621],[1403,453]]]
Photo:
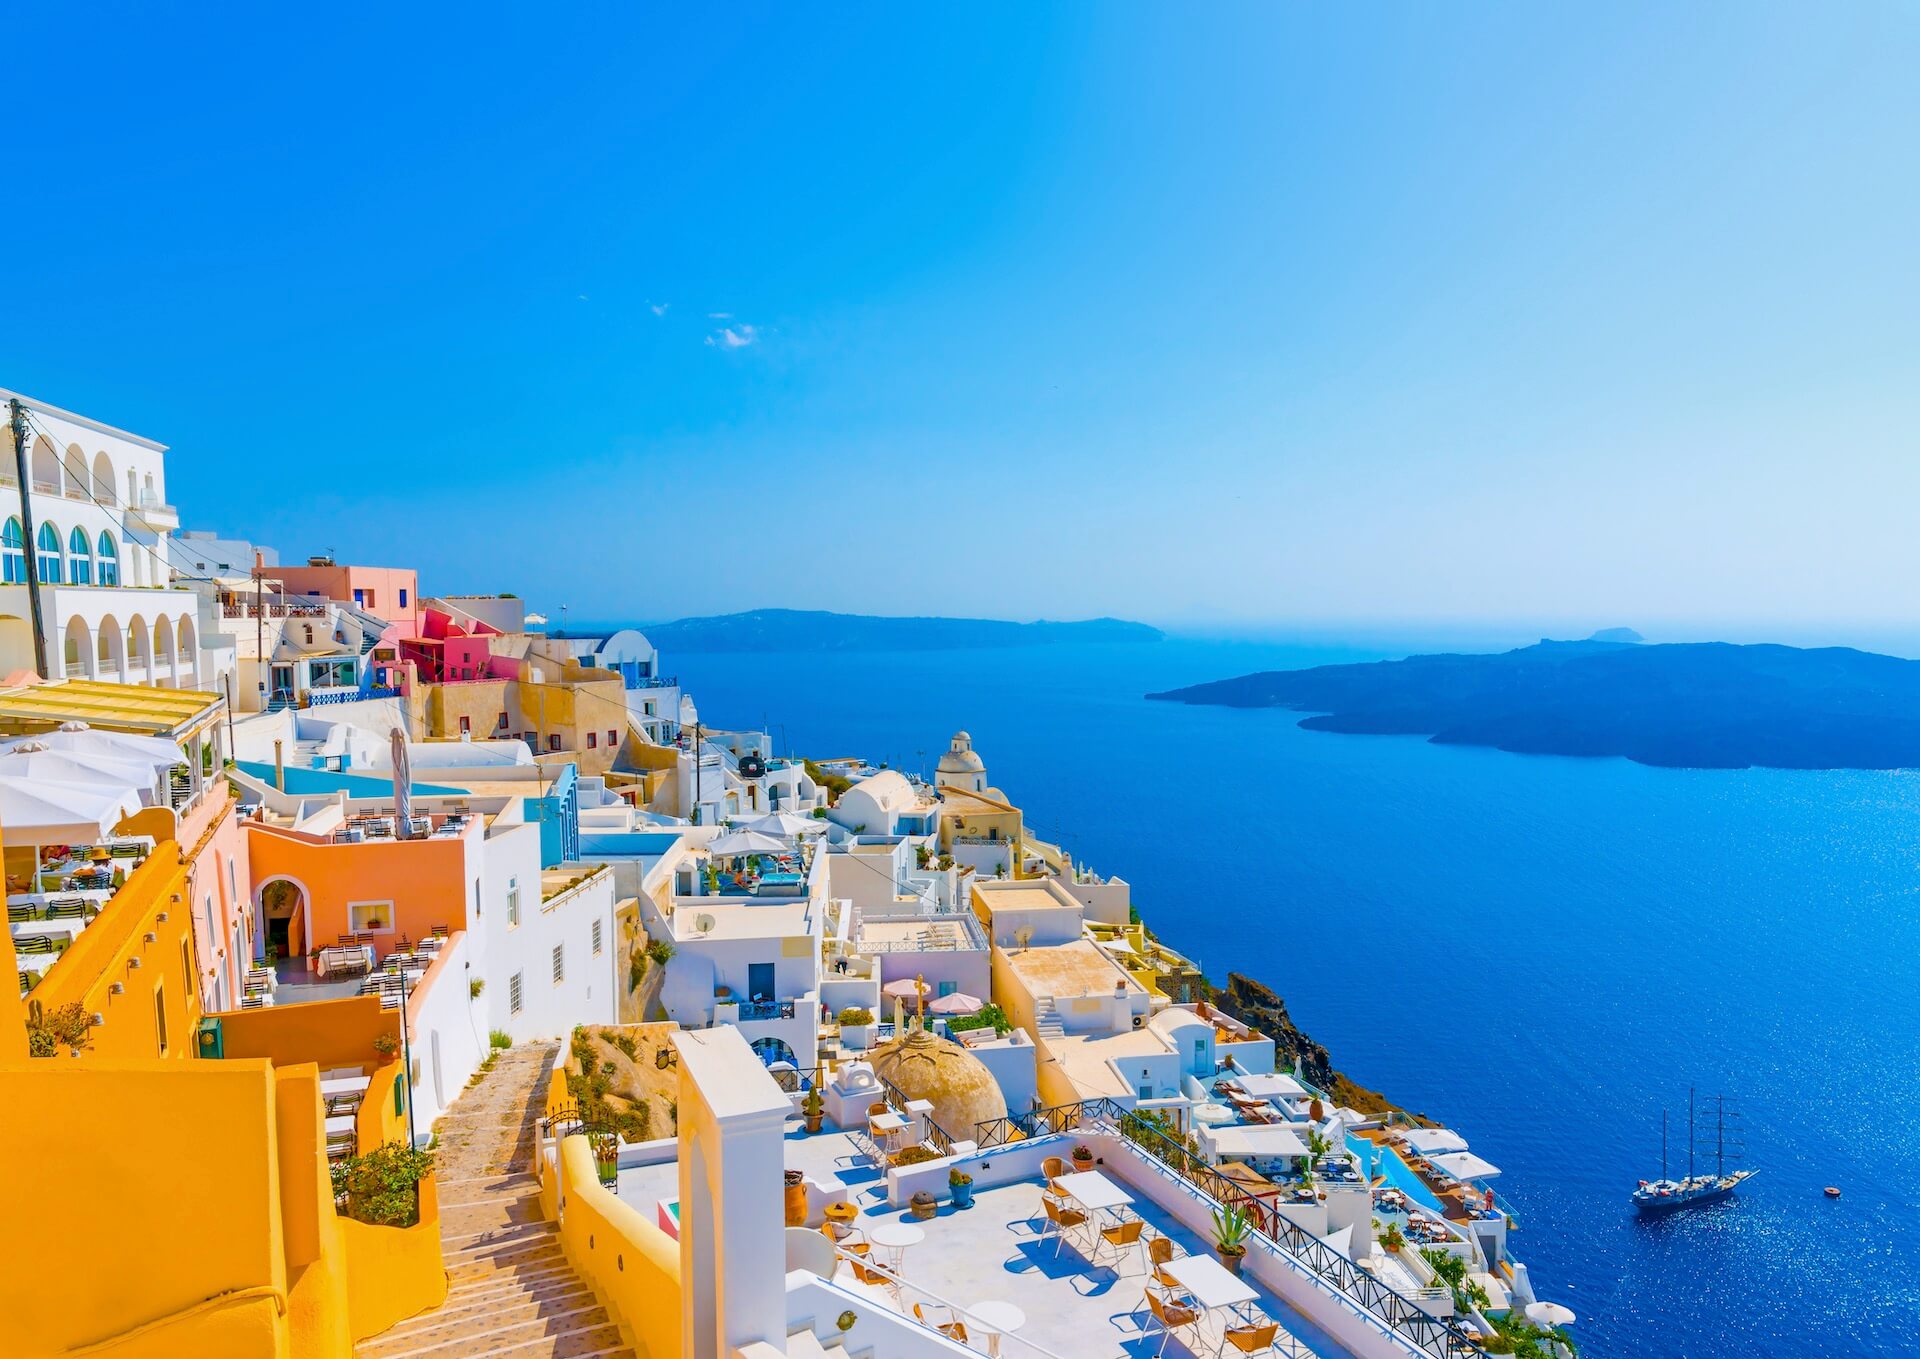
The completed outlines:
[[[359,1342],[357,1359],[645,1359],[540,1215],[532,1167],[557,1056],[557,1042],[509,1048],[434,1125],[447,1301]]]

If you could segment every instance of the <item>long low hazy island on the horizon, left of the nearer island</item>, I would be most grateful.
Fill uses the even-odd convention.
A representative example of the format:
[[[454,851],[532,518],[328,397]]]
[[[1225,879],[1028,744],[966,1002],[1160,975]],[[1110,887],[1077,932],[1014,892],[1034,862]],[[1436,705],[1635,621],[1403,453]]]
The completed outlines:
[[[755,608],[647,624],[666,651],[977,651],[1060,643],[1146,643],[1162,632],[1123,618],[1002,622],[998,618],[881,618],[810,608]]]

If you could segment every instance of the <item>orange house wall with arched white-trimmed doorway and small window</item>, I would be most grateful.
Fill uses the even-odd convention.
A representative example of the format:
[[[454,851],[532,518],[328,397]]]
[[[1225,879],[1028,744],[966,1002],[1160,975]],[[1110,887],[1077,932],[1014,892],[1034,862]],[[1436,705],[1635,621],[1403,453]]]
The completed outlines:
[[[467,929],[480,894],[482,818],[455,835],[357,845],[267,822],[248,822],[246,831],[261,933],[286,958],[342,935],[371,935],[384,958],[401,939],[424,939],[436,925]],[[290,889],[269,896],[280,881]]]

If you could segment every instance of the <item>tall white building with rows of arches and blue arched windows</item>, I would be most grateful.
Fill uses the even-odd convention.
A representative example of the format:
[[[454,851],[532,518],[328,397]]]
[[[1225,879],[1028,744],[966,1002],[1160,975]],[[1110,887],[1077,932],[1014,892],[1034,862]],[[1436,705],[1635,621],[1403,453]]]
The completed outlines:
[[[0,390],[0,399],[13,395]],[[169,536],[180,516],[167,503],[165,445],[19,399],[29,409],[29,488],[21,497],[13,459],[0,459],[0,499],[8,501],[0,516],[0,670],[35,666],[31,516],[52,676],[219,691],[219,653],[202,651],[194,595],[173,584]]]

